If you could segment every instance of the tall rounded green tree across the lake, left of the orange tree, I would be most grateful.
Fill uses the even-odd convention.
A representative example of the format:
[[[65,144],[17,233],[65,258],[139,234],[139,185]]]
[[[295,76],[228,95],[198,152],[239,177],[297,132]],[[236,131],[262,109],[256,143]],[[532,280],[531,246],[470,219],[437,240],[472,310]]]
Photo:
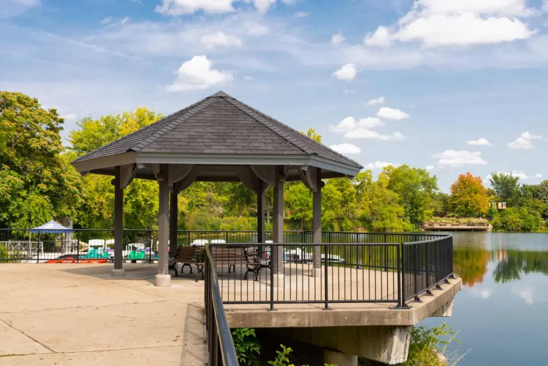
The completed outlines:
[[[432,216],[432,196],[438,190],[437,177],[426,169],[401,165],[386,167],[379,175],[381,184],[397,193],[404,208],[404,216],[413,225]]]

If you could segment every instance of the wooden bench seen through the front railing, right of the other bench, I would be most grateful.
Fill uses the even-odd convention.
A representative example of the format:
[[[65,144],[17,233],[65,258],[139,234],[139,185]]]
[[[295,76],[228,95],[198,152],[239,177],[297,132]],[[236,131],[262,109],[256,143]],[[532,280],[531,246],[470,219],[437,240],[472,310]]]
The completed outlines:
[[[242,279],[247,279],[247,274],[253,272],[255,281],[259,281],[259,271],[261,264],[259,260],[259,252],[256,247],[231,247],[229,245],[214,245],[211,248],[212,259],[215,266],[228,265],[236,272],[237,265],[245,265],[246,273]],[[217,270],[219,275],[219,270]]]

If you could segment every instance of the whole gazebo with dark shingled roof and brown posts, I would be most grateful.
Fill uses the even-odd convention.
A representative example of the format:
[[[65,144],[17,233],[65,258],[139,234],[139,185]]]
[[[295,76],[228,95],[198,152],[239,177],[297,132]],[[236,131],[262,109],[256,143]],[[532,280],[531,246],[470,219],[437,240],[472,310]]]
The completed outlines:
[[[273,187],[273,242],[283,243],[283,185],[302,181],[313,192],[313,242],[321,243],[324,178],[352,178],[363,167],[338,152],[232,98],[208,96],[72,162],[76,170],[115,178],[115,260],[123,276],[123,190],[133,179],[159,184],[158,274],[168,287],[168,241],[177,248],[177,195],[195,181],[242,182],[257,195],[258,243],[265,242],[265,196]],[[272,251],[271,270],[283,270],[282,247]],[[319,247],[311,275],[321,267]]]

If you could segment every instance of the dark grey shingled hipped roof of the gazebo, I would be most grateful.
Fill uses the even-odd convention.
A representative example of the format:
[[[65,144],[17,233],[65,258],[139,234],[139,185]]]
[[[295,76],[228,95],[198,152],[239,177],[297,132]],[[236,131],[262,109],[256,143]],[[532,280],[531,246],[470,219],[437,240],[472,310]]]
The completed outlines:
[[[80,172],[108,175],[129,163],[146,179],[153,179],[150,164],[163,163],[313,166],[324,178],[354,176],[363,168],[223,91],[72,162]]]

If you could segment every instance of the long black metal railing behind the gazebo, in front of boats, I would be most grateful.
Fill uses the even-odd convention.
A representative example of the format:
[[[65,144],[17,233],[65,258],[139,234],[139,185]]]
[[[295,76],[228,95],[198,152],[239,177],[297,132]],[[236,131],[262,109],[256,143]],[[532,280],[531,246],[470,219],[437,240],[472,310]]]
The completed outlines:
[[[441,238],[443,235],[422,233],[322,233],[322,243],[404,243]],[[265,241],[272,241],[272,232],[265,232]],[[256,243],[256,231],[179,230],[177,244]],[[284,231],[284,243],[312,243],[311,231]],[[157,259],[158,231],[124,229],[123,258],[127,261],[154,262]],[[50,233],[0,228],[0,262],[2,261],[86,261],[112,260],[113,229],[73,229],[66,233]]]

